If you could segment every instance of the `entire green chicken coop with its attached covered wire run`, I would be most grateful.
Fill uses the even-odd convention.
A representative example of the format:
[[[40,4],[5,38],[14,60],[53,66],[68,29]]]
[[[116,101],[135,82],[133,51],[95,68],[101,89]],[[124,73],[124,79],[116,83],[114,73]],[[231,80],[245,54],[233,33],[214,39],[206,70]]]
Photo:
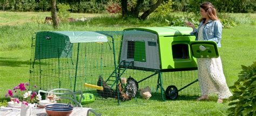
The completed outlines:
[[[200,91],[193,56],[218,57],[218,49],[212,41],[194,41],[191,31],[140,27],[37,32],[32,37],[30,83],[41,90],[82,90],[103,98],[98,100],[117,98],[118,103],[143,101],[144,88],[150,88],[146,99],[176,99],[178,92],[180,98],[196,97]],[[86,88],[84,83],[104,89]]]

